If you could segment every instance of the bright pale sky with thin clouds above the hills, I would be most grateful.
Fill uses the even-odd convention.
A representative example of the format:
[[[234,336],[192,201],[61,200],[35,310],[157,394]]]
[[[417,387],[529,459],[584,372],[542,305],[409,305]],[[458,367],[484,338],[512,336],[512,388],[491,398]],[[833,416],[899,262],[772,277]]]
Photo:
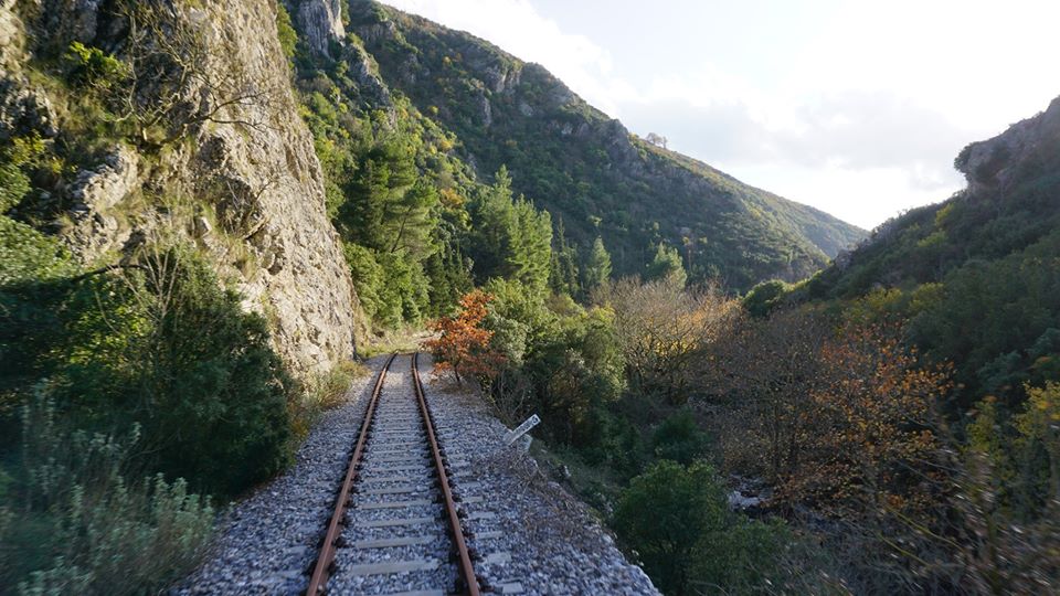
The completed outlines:
[[[560,77],[640,136],[871,228],[964,187],[1060,95],[1057,0],[384,0]]]

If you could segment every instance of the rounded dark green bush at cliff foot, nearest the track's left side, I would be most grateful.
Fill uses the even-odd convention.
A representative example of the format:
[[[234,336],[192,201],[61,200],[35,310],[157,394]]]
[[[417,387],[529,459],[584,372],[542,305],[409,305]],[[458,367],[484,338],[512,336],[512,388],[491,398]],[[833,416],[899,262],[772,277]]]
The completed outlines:
[[[134,338],[140,350],[121,401],[160,469],[218,494],[275,475],[288,462],[287,404],[297,393],[265,319],[244,312],[188,247],[142,263],[127,281],[148,324]]]

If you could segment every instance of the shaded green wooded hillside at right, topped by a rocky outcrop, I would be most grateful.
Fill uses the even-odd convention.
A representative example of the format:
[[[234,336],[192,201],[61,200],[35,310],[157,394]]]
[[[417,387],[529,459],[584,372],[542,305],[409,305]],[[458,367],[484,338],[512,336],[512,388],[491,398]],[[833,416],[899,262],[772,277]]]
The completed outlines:
[[[883,224],[795,296],[910,318],[911,339],[956,366],[958,406],[1018,408],[1025,384],[1060,379],[1060,98],[955,167],[965,190]]]

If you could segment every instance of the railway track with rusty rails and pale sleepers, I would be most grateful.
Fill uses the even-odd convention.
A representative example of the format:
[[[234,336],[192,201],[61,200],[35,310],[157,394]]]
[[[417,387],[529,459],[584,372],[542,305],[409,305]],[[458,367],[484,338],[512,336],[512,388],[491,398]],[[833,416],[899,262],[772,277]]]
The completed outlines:
[[[489,589],[475,574],[418,353],[407,370],[394,366],[404,360],[391,355],[375,380],[308,595],[477,596]]]

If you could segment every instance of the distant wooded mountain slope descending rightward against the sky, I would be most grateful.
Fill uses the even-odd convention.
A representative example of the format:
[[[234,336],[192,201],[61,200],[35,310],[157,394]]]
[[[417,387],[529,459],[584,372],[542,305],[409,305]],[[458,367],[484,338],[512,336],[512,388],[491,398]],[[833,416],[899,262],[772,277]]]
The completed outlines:
[[[480,177],[507,166],[513,189],[616,272],[638,273],[665,241],[692,277],[743,288],[809,275],[863,232],[630,135],[536,64],[469,34],[375,2],[350,3],[350,29],[383,82],[459,140]]]

